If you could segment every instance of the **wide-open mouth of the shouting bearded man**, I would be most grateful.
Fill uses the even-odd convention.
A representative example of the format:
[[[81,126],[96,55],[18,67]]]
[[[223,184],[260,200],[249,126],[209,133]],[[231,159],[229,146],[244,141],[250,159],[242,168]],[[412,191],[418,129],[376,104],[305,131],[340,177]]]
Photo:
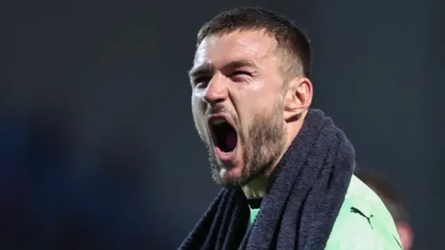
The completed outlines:
[[[223,117],[211,118],[209,127],[216,148],[223,153],[232,153],[238,142],[235,128]]]

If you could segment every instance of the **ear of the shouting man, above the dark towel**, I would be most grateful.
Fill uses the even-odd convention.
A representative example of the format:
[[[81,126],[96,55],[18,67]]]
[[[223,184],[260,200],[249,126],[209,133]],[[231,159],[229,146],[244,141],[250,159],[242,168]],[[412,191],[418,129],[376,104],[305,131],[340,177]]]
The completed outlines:
[[[312,82],[306,77],[296,77],[287,83],[284,95],[284,119],[299,116],[312,103]]]

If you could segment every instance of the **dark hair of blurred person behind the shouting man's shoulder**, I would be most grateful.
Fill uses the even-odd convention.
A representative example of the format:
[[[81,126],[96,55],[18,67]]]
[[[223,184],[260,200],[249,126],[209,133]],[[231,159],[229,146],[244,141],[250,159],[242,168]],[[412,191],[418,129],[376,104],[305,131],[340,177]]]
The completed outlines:
[[[382,178],[382,176],[364,169],[360,169],[355,175],[380,196],[394,218],[394,221],[409,222],[409,213],[403,198],[394,187],[391,187],[391,185]]]

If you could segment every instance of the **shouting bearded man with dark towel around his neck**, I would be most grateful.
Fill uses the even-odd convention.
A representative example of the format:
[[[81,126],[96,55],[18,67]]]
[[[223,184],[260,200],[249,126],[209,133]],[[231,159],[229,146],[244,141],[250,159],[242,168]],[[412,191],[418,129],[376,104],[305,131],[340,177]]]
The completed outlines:
[[[223,190],[179,249],[402,249],[353,176],[353,146],[312,102],[309,40],[260,8],[197,35],[192,110]]]

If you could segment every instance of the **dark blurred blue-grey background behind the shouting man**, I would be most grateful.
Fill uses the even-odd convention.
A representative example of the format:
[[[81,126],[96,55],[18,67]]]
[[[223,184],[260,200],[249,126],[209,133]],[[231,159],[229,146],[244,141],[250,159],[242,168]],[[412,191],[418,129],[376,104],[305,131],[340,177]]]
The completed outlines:
[[[445,1],[0,3],[0,249],[177,249],[218,192],[190,108],[197,29],[270,8],[314,47],[314,107],[443,249]]]

